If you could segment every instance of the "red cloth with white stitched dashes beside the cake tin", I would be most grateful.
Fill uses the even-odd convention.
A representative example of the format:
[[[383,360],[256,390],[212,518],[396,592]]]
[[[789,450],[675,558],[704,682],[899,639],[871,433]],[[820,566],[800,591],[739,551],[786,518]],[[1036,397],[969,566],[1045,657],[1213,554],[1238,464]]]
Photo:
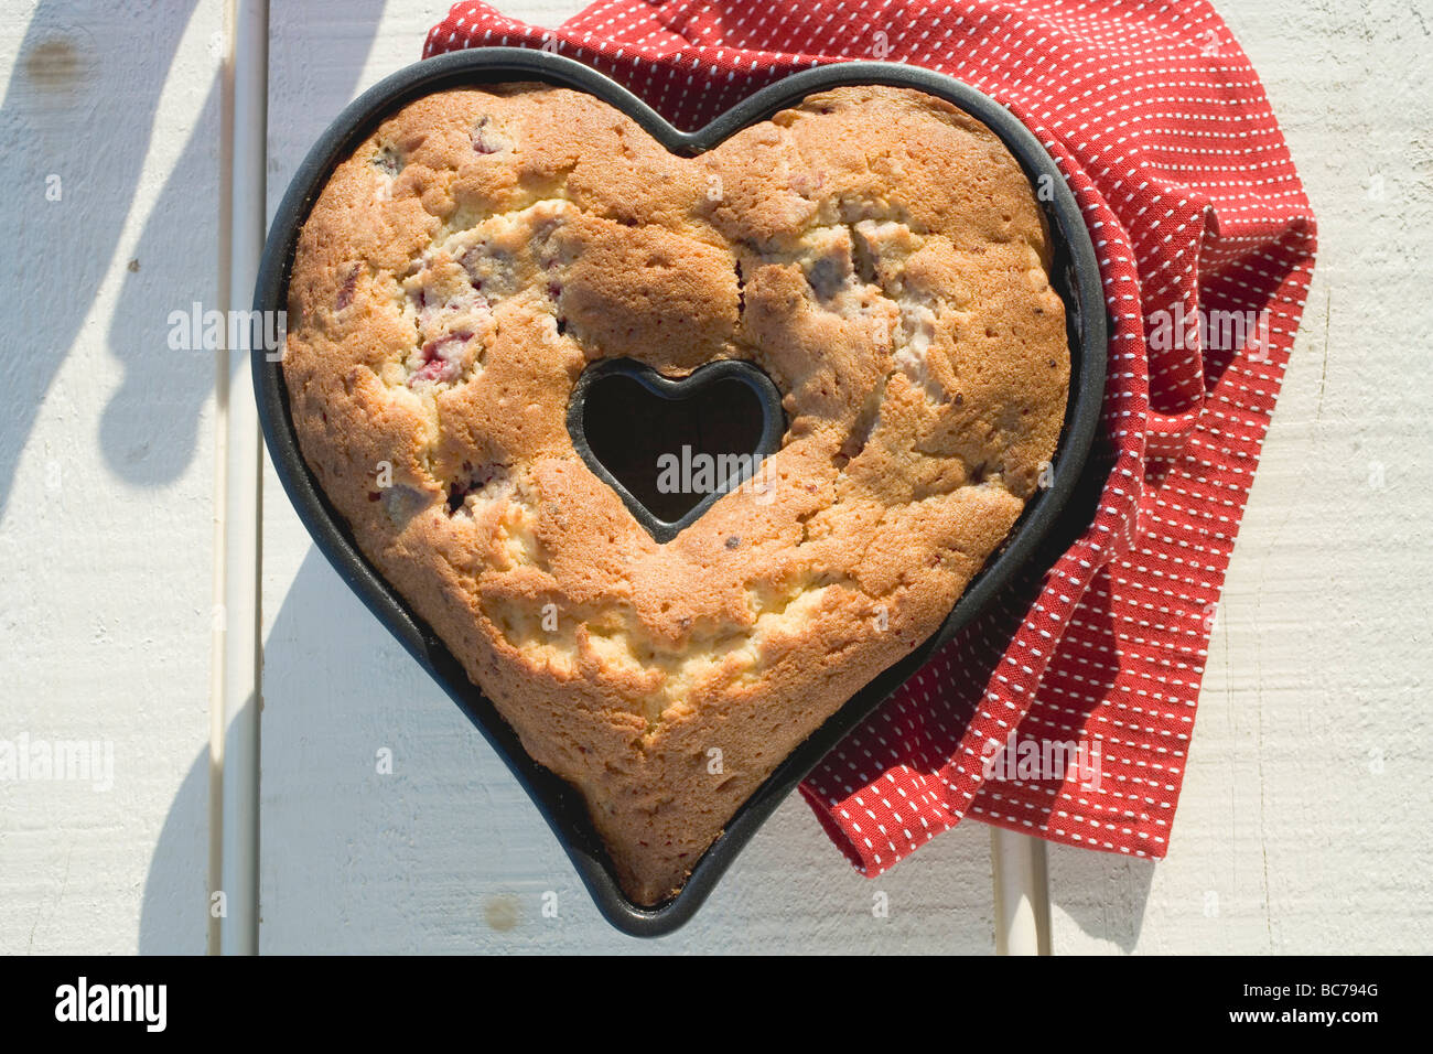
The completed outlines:
[[[606,0],[555,30],[460,3],[424,54],[546,47],[696,128],[827,62],[947,73],[1059,162],[1093,237],[1109,383],[1068,535],[802,784],[880,875],[976,816],[1162,858],[1215,602],[1314,265],[1258,76],[1207,3]]]

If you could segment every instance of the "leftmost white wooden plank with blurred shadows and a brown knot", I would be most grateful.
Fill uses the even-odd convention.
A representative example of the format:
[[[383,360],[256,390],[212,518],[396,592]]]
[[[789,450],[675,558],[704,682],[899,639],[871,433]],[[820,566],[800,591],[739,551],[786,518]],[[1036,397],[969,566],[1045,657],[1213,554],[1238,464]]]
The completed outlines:
[[[0,10],[0,952],[202,952],[222,6]],[[56,194],[57,192],[57,194]],[[102,780],[103,783],[103,780]]]

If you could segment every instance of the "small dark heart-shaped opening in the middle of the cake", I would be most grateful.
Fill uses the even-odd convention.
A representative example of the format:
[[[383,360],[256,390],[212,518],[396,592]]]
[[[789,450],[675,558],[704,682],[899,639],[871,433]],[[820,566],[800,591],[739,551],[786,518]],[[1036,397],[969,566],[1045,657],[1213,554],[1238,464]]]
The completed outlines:
[[[592,470],[658,542],[695,522],[781,449],[781,393],[751,363],[668,377],[609,359],[577,379],[567,430]]]

